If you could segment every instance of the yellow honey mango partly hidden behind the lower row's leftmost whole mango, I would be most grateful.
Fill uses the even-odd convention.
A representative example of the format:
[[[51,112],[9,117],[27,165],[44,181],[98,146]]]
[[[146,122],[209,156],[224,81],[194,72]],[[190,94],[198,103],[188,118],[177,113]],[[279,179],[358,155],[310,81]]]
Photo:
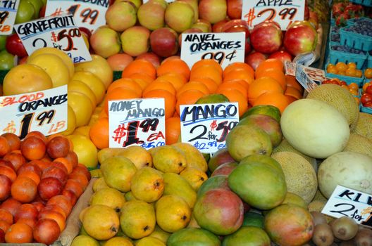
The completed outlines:
[[[106,205],[120,213],[121,207],[125,203],[125,198],[120,191],[113,188],[101,188],[90,197],[90,205]]]

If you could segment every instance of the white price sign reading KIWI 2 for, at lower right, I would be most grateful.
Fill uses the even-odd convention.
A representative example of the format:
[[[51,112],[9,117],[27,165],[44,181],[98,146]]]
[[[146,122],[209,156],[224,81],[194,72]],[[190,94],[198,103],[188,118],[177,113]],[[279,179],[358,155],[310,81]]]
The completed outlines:
[[[322,213],[335,218],[348,216],[356,223],[372,228],[372,195],[337,186]]]

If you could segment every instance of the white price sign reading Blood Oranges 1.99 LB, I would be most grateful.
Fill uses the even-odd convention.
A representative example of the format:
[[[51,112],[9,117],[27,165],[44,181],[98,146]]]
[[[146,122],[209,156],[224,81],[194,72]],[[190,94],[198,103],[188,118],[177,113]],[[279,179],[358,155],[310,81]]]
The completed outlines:
[[[0,135],[24,138],[30,131],[48,136],[67,129],[67,85],[0,97]]]

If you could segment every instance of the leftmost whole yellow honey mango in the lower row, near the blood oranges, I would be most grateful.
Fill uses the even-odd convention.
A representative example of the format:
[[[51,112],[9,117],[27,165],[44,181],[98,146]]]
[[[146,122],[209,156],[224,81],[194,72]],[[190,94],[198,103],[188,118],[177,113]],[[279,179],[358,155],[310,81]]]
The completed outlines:
[[[111,207],[93,205],[85,212],[82,226],[92,238],[107,240],[118,233],[120,222],[118,214]]]

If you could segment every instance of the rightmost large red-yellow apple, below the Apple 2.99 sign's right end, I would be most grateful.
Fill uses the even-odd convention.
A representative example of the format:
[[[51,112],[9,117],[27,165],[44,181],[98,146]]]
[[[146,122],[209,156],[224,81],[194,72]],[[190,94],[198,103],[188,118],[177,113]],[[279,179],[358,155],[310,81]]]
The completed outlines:
[[[293,56],[314,51],[318,41],[318,33],[306,20],[293,22],[285,32],[283,44],[285,50]]]

